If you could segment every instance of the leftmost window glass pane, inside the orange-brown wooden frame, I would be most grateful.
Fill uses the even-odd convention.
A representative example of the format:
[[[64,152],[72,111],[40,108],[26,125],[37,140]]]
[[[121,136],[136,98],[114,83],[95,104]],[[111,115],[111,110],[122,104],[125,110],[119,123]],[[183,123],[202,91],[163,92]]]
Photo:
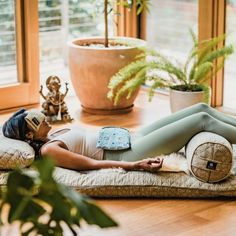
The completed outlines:
[[[15,1],[0,1],[0,86],[17,82]]]

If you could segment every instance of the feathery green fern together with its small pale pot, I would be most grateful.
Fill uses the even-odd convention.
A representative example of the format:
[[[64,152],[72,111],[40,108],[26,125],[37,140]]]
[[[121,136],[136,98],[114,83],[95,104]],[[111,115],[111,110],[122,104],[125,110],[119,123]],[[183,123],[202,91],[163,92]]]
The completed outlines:
[[[150,100],[156,89],[170,89],[172,112],[198,102],[210,103],[210,81],[224,66],[227,56],[233,53],[233,46],[217,47],[224,41],[225,35],[199,42],[192,30],[190,33],[193,47],[185,64],[175,64],[156,50],[142,47],[140,50],[143,53],[137,57],[138,60],[122,68],[111,78],[108,98],[114,104],[119,104],[122,97],[129,98],[141,84],[148,81]],[[218,58],[222,62],[214,68],[214,62]]]

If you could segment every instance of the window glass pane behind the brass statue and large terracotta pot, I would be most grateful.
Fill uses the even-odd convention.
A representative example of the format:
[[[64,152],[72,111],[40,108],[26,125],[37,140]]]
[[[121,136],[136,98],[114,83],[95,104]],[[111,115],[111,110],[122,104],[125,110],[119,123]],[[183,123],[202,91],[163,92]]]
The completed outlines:
[[[102,13],[103,0],[39,0],[41,84],[45,85],[50,75],[69,81],[67,42],[76,37],[103,36]]]

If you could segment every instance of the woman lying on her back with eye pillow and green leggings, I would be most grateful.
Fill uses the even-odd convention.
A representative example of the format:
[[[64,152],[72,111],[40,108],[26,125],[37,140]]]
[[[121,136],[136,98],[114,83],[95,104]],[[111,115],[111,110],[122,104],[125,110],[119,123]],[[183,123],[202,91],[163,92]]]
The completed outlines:
[[[161,155],[178,152],[197,133],[209,131],[236,143],[236,119],[206,104],[183,109],[129,137],[123,128],[89,132],[78,127],[49,135],[51,126],[39,111],[21,109],[3,125],[4,136],[28,142],[36,156],[50,156],[60,167],[75,170],[123,168],[125,170],[185,171],[183,158],[175,163]]]

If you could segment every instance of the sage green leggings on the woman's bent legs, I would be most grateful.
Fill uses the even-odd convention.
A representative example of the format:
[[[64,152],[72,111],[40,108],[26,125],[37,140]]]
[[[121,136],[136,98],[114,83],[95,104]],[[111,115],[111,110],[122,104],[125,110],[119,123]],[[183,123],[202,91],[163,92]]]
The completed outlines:
[[[104,159],[137,161],[179,151],[197,133],[209,131],[236,143],[236,119],[198,103],[138,130],[131,148],[105,151]]]

